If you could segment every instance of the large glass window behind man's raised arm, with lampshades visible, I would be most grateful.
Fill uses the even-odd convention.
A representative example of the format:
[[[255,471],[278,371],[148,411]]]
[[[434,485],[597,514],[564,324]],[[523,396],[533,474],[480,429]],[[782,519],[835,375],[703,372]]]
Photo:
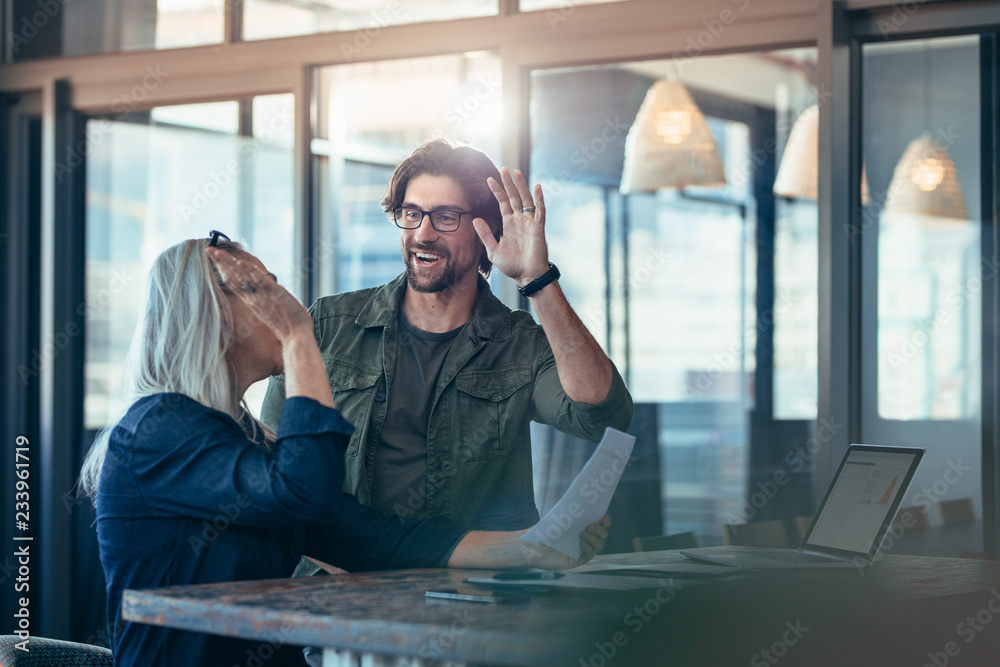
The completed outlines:
[[[755,423],[816,417],[815,169],[811,193],[772,192],[789,126],[816,103],[814,65],[815,50],[798,49],[532,74],[531,177],[546,192],[550,257],[636,414],[654,415],[637,433],[659,455],[650,534],[718,542],[721,524],[763,517],[747,504],[751,480],[774,472],[760,461],[780,464],[774,452],[802,446],[809,424],[774,442]],[[721,181],[691,184],[688,171],[714,169],[694,148],[626,157],[641,153],[631,135],[646,116],[659,144],[710,136]],[[815,137],[811,149],[815,160]],[[640,169],[646,185],[622,194]],[[762,368],[758,356],[772,351]],[[767,514],[808,513],[802,497],[774,500]]]

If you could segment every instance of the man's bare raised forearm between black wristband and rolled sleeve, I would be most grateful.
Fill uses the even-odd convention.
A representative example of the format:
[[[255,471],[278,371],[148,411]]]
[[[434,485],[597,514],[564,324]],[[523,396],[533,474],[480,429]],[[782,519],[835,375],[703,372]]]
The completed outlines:
[[[608,396],[614,370],[611,360],[577,317],[558,282],[531,297],[545,331],[563,391],[579,403],[600,403]]]

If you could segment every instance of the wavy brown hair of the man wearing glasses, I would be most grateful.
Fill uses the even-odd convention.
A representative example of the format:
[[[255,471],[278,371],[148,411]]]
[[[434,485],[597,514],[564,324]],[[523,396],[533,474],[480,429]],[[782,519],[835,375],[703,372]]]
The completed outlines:
[[[458,183],[475,217],[485,220],[493,231],[493,236],[500,240],[503,236],[503,216],[500,215],[500,204],[486,184],[486,179],[490,176],[500,183],[500,170],[485,153],[471,146],[452,144],[447,139],[428,141],[396,167],[380,202],[382,210],[392,213],[402,206],[410,179],[423,174],[447,176]],[[486,248],[483,247],[479,258],[479,272],[489,276],[492,268],[493,263],[486,256]]]

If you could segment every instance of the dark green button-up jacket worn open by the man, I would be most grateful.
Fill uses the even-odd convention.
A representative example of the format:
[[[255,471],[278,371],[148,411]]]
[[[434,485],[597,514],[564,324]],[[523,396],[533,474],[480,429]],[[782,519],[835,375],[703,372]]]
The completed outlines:
[[[355,426],[344,490],[370,503],[372,468],[395,368],[396,322],[406,274],[381,287],[324,297],[309,309],[337,409]],[[284,377],[272,377],[261,410],[275,428]],[[486,280],[472,319],[452,344],[427,425],[427,515],[483,530],[538,521],[531,473],[532,420],[590,441],[625,430],[632,397],[618,371],[607,398],[577,403],[563,392],[548,340],[528,313],[512,311]],[[421,518],[422,512],[397,508]]]

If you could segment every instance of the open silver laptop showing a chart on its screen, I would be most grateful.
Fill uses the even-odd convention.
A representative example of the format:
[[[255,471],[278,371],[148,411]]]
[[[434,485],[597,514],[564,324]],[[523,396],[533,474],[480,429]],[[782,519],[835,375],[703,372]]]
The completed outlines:
[[[681,554],[760,570],[870,565],[923,455],[916,447],[851,445],[798,549],[724,546]]]

